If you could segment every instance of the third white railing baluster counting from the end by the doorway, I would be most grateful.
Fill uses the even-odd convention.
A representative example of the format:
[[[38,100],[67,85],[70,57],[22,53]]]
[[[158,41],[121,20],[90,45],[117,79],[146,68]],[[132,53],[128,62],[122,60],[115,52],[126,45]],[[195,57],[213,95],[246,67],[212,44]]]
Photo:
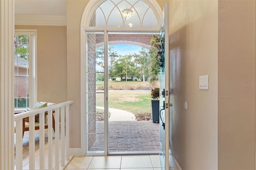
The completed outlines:
[[[60,146],[60,118],[59,108],[55,109],[55,169],[60,169],[59,146]]]

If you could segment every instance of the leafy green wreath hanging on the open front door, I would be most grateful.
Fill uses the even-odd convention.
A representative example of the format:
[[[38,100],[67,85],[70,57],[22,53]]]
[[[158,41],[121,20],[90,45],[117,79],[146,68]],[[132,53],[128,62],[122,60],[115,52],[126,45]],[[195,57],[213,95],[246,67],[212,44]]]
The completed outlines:
[[[153,38],[150,40],[151,47],[149,49],[150,57],[152,59],[151,72],[154,75],[160,74],[160,68],[162,68],[162,37],[153,35]]]

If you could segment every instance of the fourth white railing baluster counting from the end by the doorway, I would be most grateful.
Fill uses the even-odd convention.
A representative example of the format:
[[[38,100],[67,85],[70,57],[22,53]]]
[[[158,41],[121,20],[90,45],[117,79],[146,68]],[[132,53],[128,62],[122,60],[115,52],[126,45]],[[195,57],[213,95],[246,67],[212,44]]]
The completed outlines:
[[[48,111],[48,170],[52,170],[52,110]]]

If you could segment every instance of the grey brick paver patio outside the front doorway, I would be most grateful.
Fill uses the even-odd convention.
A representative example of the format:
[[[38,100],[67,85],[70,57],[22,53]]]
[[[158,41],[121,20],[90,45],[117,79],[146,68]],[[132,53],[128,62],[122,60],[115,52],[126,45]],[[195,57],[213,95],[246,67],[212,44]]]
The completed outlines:
[[[104,122],[96,122],[96,141],[89,151],[104,150]],[[99,134],[100,133],[100,134]],[[110,121],[109,152],[159,152],[159,123]]]

